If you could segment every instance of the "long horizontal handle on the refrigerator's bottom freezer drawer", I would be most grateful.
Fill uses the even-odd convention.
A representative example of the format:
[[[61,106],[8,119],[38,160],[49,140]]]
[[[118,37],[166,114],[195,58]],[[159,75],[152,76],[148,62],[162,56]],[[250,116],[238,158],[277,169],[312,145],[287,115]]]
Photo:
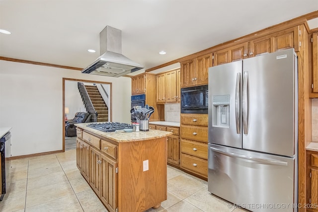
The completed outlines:
[[[228,151],[225,151],[225,150],[222,150],[222,149],[218,149],[218,148],[215,148],[215,147],[210,147],[210,149],[212,149],[213,151],[216,151],[216,152],[218,152],[220,154],[224,154],[226,156],[238,157],[238,158],[242,158],[242,159],[246,159],[246,160],[255,161],[255,162],[258,162],[258,163],[261,163],[261,164],[279,165],[279,166],[287,166],[288,165],[288,163],[286,161],[257,158],[257,157],[237,154],[237,153],[233,153],[233,152],[228,152]]]

